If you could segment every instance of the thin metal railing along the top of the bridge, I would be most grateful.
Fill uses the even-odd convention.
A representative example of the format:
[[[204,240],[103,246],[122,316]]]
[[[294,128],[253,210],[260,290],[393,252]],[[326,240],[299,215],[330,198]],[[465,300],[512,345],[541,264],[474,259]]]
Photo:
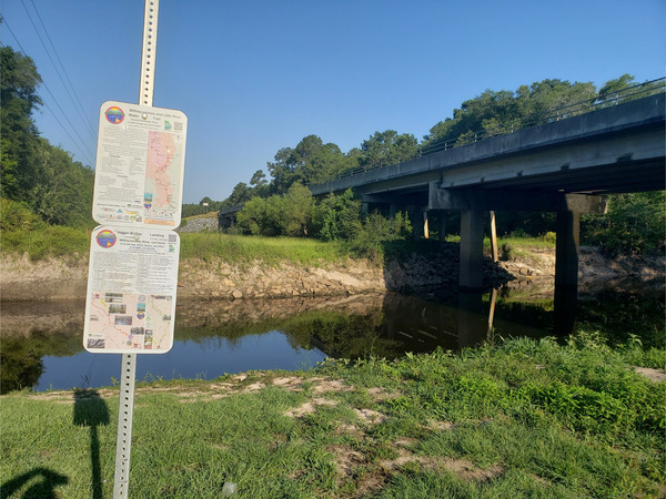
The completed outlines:
[[[597,95],[594,99],[588,99],[579,102],[574,102],[561,108],[553,108],[544,112],[532,114],[527,118],[516,119],[507,123],[503,123],[500,126],[493,129],[486,129],[478,132],[466,132],[455,139],[450,139],[444,142],[427,145],[420,149],[413,157],[421,157],[428,154],[434,154],[441,151],[447,151],[453,147],[460,147],[462,145],[473,144],[481,142],[485,139],[490,139],[497,135],[505,135],[507,133],[517,132],[518,130],[529,129],[532,126],[538,126],[547,123],[553,123],[568,118],[585,114],[598,109],[607,108],[610,105],[620,104],[635,99],[640,99],[655,93],[662,93],[666,91],[666,78],[659,78],[657,80],[646,81],[636,85],[627,86],[615,92],[608,92],[603,95]],[[337,175],[336,180],[345,179],[347,176],[359,175],[367,172],[369,170],[379,170],[385,166],[369,169],[360,166],[354,170],[347,170],[346,172]]]

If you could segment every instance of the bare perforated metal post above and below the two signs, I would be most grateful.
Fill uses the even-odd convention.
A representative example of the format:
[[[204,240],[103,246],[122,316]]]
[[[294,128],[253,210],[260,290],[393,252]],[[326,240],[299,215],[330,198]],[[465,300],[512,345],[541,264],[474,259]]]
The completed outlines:
[[[139,104],[141,105],[152,105],[153,101],[159,8],[160,0],[145,0],[143,12],[141,84],[139,91]],[[132,417],[134,414],[135,378],[137,354],[122,354],[113,499],[129,497],[128,489],[130,485],[130,452],[132,450]]]

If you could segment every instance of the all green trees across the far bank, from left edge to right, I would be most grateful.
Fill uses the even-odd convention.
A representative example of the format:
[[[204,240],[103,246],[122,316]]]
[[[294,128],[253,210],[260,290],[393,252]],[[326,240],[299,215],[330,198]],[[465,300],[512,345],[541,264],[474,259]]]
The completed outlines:
[[[0,226],[26,228],[38,223],[88,227],[92,204],[93,171],[73,161],[72,155],[40,136],[32,118],[42,104],[37,88],[41,77],[31,58],[10,47],[0,48]],[[592,105],[615,102],[617,92],[635,85],[623,74],[601,89],[593,83],[571,83],[557,79],[522,85],[516,91],[486,90],[463,102],[430,129],[420,142],[411,133],[394,130],[375,132],[359,147],[343,152],[317,135],[303,138],[295,146],[280,149],[266,172],[258,170],[249,183],[239,183],[223,201],[204,197],[199,204],[183,205],[183,216],[244,204],[238,232],[262,235],[309,236],[326,241],[346,240],[371,244],[410,233],[404,214],[389,220],[364,214],[351,192],[331,195],[319,204],[309,185],[331,181],[355,169],[377,169],[410,160],[418,151],[457,145],[478,133],[484,136],[541,124],[553,112],[572,115]],[[645,85],[635,99],[663,91],[663,82]],[[270,175],[270,176],[269,176]],[[608,251],[646,251],[664,245],[664,191],[612,197],[610,213],[584,220],[584,237]],[[455,218],[455,214],[452,217]],[[455,221],[451,226],[455,226]],[[542,213],[517,213],[501,217],[502,233],[536,235],[554,230],[554,217]]]

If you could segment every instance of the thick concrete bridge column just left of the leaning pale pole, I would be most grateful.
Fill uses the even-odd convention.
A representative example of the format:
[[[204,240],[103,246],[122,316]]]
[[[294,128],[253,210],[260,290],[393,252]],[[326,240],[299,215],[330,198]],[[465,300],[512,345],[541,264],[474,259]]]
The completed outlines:
[[[461,289],[483,288],[483,215],[481,210],[461,212]]]

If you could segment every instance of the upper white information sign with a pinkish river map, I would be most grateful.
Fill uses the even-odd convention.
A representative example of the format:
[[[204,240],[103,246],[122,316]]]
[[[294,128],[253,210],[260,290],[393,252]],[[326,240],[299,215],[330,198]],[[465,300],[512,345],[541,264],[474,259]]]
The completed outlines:
[[[165,230],[180,225],[186,129],[181,111],[115,101],[102,104],[95,222]]]

